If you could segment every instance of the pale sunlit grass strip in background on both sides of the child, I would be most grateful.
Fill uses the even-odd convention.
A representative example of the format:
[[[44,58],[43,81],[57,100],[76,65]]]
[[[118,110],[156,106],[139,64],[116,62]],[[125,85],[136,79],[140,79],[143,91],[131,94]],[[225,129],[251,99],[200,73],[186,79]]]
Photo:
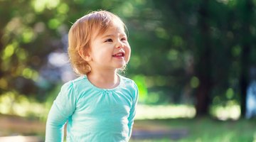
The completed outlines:
[[[0,96],[0,114],[35,116],[46,119],[50,104],[52,102],[38,103],[24,95],[18,95],[16,92],[6,92]],[[228,103],[225,107],[215,105],[211,107],[210,113],[220,120],[236,120],[240,118],[240,106],[232,103]],[[177,119],[193,118],[194,116],[196,116],[196,109],[191,105],[138,104],[135,119]]]

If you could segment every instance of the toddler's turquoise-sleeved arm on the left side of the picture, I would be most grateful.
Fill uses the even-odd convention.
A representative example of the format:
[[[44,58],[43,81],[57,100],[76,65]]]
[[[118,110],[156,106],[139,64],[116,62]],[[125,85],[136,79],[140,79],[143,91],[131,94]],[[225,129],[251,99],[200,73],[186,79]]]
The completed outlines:
[[[73,84],[64,84],[50,108],[46,122],[46,142],[63,141],[63,127],[75,111]]]

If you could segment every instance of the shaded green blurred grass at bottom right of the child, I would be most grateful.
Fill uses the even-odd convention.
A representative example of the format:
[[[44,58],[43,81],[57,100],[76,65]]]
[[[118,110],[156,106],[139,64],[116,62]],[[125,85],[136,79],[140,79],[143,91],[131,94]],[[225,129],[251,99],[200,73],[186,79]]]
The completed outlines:
[[[256,142],[255,119],[239,119],[237,121],[219,121],[207,117],[196,119],[139,120],[136,125],[157,125],[169,129],[187,129],[188,136],[183,138],[132,139],[131,142]]]

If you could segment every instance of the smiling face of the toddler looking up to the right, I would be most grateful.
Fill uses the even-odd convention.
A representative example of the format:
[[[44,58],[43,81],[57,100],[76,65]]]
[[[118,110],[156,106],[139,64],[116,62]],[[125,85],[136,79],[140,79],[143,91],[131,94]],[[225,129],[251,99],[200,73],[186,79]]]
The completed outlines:
[[[92,38],[88,62],[92,71],[116,70],[129,62],[131,48],[124,28],[119,25],[110,27],[105,33]]]

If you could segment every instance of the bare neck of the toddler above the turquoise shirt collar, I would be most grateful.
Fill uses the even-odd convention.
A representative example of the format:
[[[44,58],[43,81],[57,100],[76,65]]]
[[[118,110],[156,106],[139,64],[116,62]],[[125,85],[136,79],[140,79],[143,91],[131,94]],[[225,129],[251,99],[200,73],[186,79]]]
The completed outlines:
[[[92,70],[87,75],[87,78],[96,87],[104,89],[112,89],[119,84],[119,77],[116,70],[114,72],[95,72]]]

